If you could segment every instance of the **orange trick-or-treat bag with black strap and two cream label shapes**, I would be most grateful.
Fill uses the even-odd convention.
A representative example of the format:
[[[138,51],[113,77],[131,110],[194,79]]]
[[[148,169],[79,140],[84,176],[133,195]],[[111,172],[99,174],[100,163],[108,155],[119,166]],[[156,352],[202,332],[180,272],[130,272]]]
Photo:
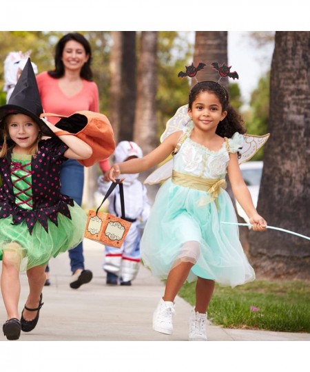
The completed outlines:
[[[119,186],[121,196],[121,218],[110,213],[99,211],[101,205],[103,205],[117,185]],[[103,245],[121,248],[130,226],[132,225],[132,223],[125,220],[123,183],[120,183],[118,179],[116,180],[116,183],[112,183],[110,188],[107,190],[107,194],[105,194],[101,205],[99,205],[96,211],[90,210],[88,212],[84,236],[85,238],[96,240],[96,242],[100,242]]]

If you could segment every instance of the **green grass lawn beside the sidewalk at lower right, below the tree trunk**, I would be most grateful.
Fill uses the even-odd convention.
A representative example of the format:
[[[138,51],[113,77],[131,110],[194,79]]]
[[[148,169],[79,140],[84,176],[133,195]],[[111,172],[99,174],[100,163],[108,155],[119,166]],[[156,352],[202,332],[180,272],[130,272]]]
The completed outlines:
[[[193,306],[195,285],[185,283],[179,293]],[[310,333],[310,282],[256,280],[233,289],[216,285],[208,318],[225,328]]]

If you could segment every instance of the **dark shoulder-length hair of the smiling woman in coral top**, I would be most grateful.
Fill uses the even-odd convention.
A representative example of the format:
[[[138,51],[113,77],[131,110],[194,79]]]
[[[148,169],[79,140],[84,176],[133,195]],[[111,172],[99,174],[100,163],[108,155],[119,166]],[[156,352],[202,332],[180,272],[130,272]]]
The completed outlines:
[[[63,74],[65,74],[65,67],[62,61],[63,49],[65,48],[65,44],[70,40],[74,40],[83,45],[85,53],[89,56],[88,61],[83,65],[81,70],[81,78],[87,81],[92,81],[92,69],[90,68],[90,63],[92,61],[92,49],[87,39],[85,39],[82,34],[79,34],[79,32],[70,32],[59,39],[55,48],[55,69],[48,71],[48,74],[54,79],[59,79],[63,76]]]

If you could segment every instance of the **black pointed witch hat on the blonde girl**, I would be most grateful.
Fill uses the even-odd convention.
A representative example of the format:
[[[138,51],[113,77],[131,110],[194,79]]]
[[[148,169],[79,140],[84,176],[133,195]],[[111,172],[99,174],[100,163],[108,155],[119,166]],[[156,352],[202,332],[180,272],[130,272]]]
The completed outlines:
[[[8,103],[0,107],[0,126],[3,123],[3,118],[10,114],[30,116],[39,125],[43,136],[55,136],[54,132],[40,118],[40,115],[43,114],[43,107],[30,58],[21,72]]]

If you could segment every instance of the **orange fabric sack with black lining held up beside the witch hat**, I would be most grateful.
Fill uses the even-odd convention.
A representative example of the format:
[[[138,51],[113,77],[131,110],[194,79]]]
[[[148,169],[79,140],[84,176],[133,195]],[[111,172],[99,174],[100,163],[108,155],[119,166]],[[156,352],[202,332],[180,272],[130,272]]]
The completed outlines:
[[[114,132],[107,116],[87,110],[74,112],[70,116],[50,113],[43,113],[42,116],[61,118],[55,125],[61,129],[55,133],[57,136],[71,134],[92,147],[92,156],[85,160],[79,160],[79,163],[85,167],[90,167],[113,154],[115,149]]]

